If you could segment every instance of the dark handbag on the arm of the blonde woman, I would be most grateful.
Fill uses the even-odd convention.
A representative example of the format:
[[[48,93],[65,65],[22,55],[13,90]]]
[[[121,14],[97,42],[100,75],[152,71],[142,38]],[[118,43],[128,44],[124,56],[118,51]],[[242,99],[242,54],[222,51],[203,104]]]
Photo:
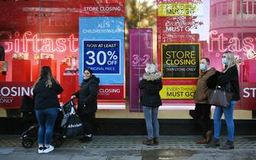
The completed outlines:
[[[229,107],[229,103],[232,100],[233,93],[228,92],[225,88],[230,88],[231,83],[229,82],[226,86],[216,85],[215,89],[208,90],[208,102],[209,104],[217,107]],[[228,90],[228,89],[227,89]]]

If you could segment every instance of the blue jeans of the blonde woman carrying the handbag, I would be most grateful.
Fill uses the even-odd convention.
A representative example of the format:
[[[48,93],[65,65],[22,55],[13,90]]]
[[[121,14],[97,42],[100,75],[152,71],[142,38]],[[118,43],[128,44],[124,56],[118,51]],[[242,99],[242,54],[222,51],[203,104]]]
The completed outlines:
[[[235,133],[235,125],[233,121],[233,111],[235,109],[235,101],[231,101],[229,107],[215,107],[214,110],[214,138],[219,139],[222,130],[222,114],[225,116],[225,123],[227,124],[228,140],[233,141]]]

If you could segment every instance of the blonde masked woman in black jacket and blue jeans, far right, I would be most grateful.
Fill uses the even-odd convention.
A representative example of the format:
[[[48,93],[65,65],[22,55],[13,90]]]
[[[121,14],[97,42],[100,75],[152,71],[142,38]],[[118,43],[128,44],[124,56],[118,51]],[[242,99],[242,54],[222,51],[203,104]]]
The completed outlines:
[[[214,139],[206,147],[220,146],[219,137],[222,128],[221,117],[224,113],[225,123],[227,124],[227,141],[219,149],[234,149],[234,133],[235,125],[233,120],[233,111],[235,109],[235,102],[240,99],[239,81],[238,81],[238,66],[235,62],[234,53],[226,51],[222,56],[222,75],[218,77],[218,85],[225,86],[231,83],[231,91],[233,93],[232,101],[229,102],[228,107],[215,107],[214,110]]]

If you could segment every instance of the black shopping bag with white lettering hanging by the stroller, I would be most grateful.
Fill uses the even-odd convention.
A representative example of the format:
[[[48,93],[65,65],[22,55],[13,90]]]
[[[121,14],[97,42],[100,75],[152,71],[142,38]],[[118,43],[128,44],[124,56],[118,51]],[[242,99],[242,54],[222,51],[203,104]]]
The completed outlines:
[[[64,135],[66,138],[79,136],[83,134],[83,123],[81,122],[79,116],[74,111],[72,107],[69,116],[67,117],[66,124],[64,125]]]

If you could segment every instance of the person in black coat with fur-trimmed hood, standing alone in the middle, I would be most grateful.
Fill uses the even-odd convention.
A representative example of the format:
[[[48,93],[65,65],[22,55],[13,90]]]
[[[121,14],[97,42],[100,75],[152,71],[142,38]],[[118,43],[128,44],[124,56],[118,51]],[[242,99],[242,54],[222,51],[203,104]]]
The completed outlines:
[[[162,74],[157,71],[154,63],[147,63],[143,78],[139,83],[141,89],[141,106],[147,127],[147,140],[144,145],[158,145],[159,123],[157,120],[158,107],[162,105],[159,91],[163,88]]]

